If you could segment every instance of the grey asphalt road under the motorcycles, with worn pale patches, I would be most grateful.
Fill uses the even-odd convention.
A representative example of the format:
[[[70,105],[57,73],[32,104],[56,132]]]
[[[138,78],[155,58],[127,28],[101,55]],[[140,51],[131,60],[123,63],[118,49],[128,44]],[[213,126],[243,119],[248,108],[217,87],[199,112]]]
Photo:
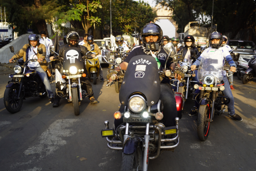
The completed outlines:
[[[105,79],[107,69],[103,67]],[[20,112],[10,114],[3,103],[8,73],[12,70],[0,70],[0,171],[120,170],[122,152],[110,150],[101,137],[104,121],[113,127],[113,113],[118,110],[113,85],[106,88],[106,82],[98,79],[93,91],[99,103],[83,100],[79,116],[74,115],[72,103],[61,100],[53,108],[48,98],[38,97],[24,100]],[[196,132],[197,117],[188,116],[194,102],[187,100],[180,145],[150,160],[148,171],[256,171],[256,79],[246,85],[241,82],[234,76],[232,92],[242,122],[215,116],[210,135],[202,142]]]

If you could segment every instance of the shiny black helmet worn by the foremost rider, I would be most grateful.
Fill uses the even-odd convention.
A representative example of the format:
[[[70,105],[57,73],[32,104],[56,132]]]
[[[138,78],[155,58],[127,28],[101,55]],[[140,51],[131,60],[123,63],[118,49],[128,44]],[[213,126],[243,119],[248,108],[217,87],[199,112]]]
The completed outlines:
[[[144,46],[148,43],[145,39],[145,37],[150,35],[158,36],[158,39],[155,43],[160,43],[163,39],[163,31],[161,27],[155,23],[148,23],[144,25],[144,27],[141,29],[140,35],[142,35],[142,43]]]

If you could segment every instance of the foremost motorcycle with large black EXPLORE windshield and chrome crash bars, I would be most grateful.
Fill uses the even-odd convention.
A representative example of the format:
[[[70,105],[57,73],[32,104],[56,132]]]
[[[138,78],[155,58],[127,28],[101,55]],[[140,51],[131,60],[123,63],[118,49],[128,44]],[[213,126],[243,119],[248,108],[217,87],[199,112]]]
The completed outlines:
[[[166,45],[168,61],[171,52],[172,57],[176,57],[177,52],[171,43]],[[107,62],[105,56],[109,57],[110,52],[105,51],[103,55]],[[109,122],[105,121],[101,135],[106,137],[109,149],[123,151],[121,170],[147,171],[149,159],[159,157],[163,150],[174,151],[180,143],[179,118],[175,119],[176,126],[165,127],[162,123],[163,104],[159,99],[160,80],[174,76],[170,70],[159,71],[153,56],[134,56],[129,64],[119,93],[124,112],[114,113],[115,119],[124,116],[124,125],[110,129]]]

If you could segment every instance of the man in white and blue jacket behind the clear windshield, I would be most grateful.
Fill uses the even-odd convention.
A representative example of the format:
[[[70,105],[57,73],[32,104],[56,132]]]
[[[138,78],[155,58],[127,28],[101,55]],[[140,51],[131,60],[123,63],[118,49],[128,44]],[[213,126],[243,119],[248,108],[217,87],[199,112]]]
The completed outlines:
[[[219,49],[222,52],[223,61],[225,61],[225,59],[227,61],[231,60],[231,61],[229,61],[230,71],[236,72],[236,64],[232,60],[232,57],[230,56],[229,51],[227,50],[226,47],[221,47],[222,34],[217,32],[217,31],[212,32],[209,36],[209,44],[210,44],[209,49]],[[202,53],[202,55],[203,55],[203,53]],[[202,59],[202,55],[198,59]],[[192,71],[194,69],[196,69],[196,66],[199,65],[199,64],[200,64],[200,61],[196,60],[195,63],[193,63],[193,65],[191,66]],[[229,104],[227,104],[227,110],[230,112],[229,116],[231,116],[236,121],[241,122],[242,121],[241,116],[239,116],[238,114],[235,113],[234,97],[233,97],[232,92],[231,92],[230,87],[229,87],[229,81],[226,77],[226,72],[224,72],[224,76],[223,76],[222,80],[225,83],[224,84],[225,90],[223,90],[223,93],[224,93],[225,96],[227,96],[230,99]]]

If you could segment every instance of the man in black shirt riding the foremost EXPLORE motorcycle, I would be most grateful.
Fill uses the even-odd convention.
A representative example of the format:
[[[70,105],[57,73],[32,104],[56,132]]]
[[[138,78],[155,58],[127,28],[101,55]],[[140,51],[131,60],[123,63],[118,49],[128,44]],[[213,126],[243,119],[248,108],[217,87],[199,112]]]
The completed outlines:
[[[144,27],[141,30],[141,35],[142,35],[142,43],[143,43],[142,46],[140,48],[134,49],[131,53],[129,53],[129,55],[125,58],[124,62],[120,64],[120,67],[122,69],[124,70],[127,69],[129,61],[131,60],[132,57],[137,55],[151,55],[152,53],[154,53],[154,55],[158,57],[158,60],[160,61],[162,66],[165,65],[165,61],[168,54],[163,50],[162,47],[160,47],[159,49],[153,52],[151,52],[150,50],[148,51],[146,50],[146,44],[148,44],[148,42],[152,42],[155,44],[161,43],[163,32],[162,32],[162,29],[159,27],[159,25],[155,23],[148,23],[144,25]],[[177,69],[175,68],[174,63],[170,64],[169,66],[173,71],[174,69]],[[117,67],[115,70],[120,71],[119,67]],[[177,74],[175,74],[175,77],[176,76]],[[178,79],[181,79],[180,75],[178,75],[177,77]],[[111,78],[109,78],[109,80],[112,81]],[[170,85],[168,84],[168,81],[166,80],[167,79],[164,79],[161,82],[160,99],[163,102],[163,106],[164,106],[163,122],[166,127],[170,127],[170,126],[175,126],[176,124],[175,118],[177,117],[177,107],[176,107],[176,100],[174,98],[172,88],[170,87]],[[120,107],[120,110],[123,110],[123,107]],[[122,122],[123,122],[123,119],[119,119],[119,120],[115,119],[114,121],[115,127],[120,125]]]

